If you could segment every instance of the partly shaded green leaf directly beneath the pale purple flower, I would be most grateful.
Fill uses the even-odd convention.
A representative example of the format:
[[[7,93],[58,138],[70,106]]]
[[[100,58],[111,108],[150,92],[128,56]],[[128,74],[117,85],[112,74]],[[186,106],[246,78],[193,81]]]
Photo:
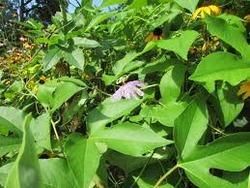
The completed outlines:
[[[103,101],[99,106],[89,112],[87,126],[91,134],[103,129],[108,123],[128,115],[133,109],[139,106],[142,100],[112,100]]]

